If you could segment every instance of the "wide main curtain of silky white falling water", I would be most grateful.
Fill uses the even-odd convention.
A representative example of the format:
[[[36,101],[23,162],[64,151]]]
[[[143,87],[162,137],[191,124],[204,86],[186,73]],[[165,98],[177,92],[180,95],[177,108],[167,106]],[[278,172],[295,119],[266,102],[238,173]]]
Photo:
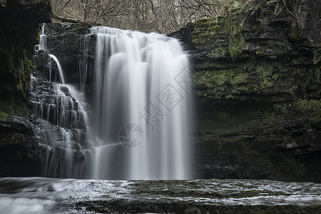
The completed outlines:
[[[91,177],[115,178],[123,168],[116,178],[190,178],[193,105],[179,42],[108,27],[91,31],[97,34]]]

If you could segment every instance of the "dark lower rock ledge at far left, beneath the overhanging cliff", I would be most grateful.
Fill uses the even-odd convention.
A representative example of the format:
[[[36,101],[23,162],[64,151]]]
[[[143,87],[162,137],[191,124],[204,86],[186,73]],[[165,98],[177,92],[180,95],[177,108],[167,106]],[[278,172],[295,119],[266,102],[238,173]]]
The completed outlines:
[[[10,116],[0,126],[0,176],[40,175],[46,148],[34,138],[27,116]]]

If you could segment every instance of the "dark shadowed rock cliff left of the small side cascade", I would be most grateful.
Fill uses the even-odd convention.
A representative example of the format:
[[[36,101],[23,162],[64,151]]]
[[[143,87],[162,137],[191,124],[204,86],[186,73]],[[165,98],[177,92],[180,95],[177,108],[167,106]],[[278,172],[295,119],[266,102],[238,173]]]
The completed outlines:
[[[26,103],[39,24],[51,21],[51,1],[0,4],[0,176],[39,175],[44,149],[34,139]]]

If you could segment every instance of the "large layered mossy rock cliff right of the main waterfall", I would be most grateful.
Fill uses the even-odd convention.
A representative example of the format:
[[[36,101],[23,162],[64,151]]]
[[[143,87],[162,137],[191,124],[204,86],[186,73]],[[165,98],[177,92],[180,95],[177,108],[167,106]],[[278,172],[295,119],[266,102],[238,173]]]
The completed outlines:
[[[171,35],[195,65],[196,177],[321,182],[320,4],[251,1]]]

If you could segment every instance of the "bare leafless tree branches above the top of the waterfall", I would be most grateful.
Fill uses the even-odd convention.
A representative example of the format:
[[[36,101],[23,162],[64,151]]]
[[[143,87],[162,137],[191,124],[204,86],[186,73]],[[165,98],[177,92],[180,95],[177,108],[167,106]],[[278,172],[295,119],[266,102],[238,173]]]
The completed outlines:
[[[156,31],[161,34],[176,31],[191,21],[218,16],[222,12],[227,13],[226,5],[230,4],[228,2],[230,1],[52,0],[56,17],[120,29]],[[61,18],[58,20],[63,21]]]

